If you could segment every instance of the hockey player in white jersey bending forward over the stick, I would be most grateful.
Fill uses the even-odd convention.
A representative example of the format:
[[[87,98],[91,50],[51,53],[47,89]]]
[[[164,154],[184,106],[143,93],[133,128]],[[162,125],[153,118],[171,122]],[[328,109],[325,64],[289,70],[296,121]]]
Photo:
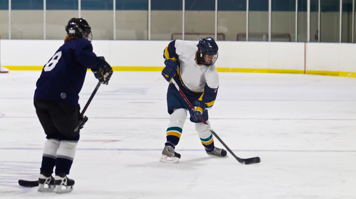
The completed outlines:
[[[213,134],[199,119],[202,116],[210,124],[208,109],[213,106],[219,88],[218,71],[214,65],[218,58],[218,45],[211,37],[201,39],[198,45],[192,41],[173,40],[164,49],[163,57],[166,67],[163,68],[162,76],[168,82],[171,78],[177,82],[195,110],[190,109],[173,83],[169,83],[167,106],[171,116],[160,161],[179,161],[180,154],[174,149],[182,135],[187,110],[206,153],[211,157],[227,157],[226,150],[214,146]]]

